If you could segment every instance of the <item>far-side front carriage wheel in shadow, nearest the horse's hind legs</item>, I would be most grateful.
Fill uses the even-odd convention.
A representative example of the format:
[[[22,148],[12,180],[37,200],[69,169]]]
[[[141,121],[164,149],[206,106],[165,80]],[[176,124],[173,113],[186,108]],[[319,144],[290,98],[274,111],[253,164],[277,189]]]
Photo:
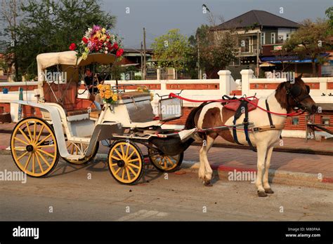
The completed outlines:
[[[157,151],[157,149],[148,149],[148,154],[152,165],[162,172],[174,172],[178,170],[181,167],[184,156],[183,153],[174,156],[165,155]]]

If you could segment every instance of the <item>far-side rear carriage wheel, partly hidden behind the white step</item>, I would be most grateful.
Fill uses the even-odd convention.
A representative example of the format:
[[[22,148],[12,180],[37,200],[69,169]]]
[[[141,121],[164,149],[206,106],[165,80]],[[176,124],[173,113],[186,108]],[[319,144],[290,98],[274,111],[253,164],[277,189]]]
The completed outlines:
[[[85,155],[86,149],[88,149],[88,147],[89,147],[88,143],[67,141],[67,151],[69,152],[69,154],[72,155]],[[85,156],[84,158],[77,160],[68,159],[68,158],[63,158],[63,160],[65,160],[67,163],[73,163],[73,164],[89,163],[96,156],[98,148],[99,148],[99,142],[96,143],[96,146],[93,149],[93,153],[91,154],[91,156]]]

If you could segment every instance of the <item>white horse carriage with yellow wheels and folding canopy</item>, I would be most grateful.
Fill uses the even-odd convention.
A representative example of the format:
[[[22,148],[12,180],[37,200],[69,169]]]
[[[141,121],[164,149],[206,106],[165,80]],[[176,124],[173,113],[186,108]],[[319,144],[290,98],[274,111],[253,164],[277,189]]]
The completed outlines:
[[[138,182],[145,156],[158,170],[171,172],[179,168],[183,151],[193,141],[192,130],[162,130],[150,104],[150,93],[112,86],[118,100],[115,104],[104,102],[100,110],[89,99],[77,97],[84,67],[94,63],[110,66],[115,59],[112,54],[91,53],[83,60],[74,51],[37,55],[37,101],[16,101],[41,111],[41,116],[20,120],[11,135],[11,153],[20,170],[32,177],[44,177],[55,168],[59,156],[68,163],[88,163],[96,156],[100,141],[110,147],[107,165],[122,184]],[[54,67],[67,79],[50,80],[48,71]],[[161,99],[160,107],[164,102],[181,106],[180,100]],[[177,111],[160,114],[159,118],[165,121],[179,116]],[[143,155],[138,143],[148,148],[147,155]]]

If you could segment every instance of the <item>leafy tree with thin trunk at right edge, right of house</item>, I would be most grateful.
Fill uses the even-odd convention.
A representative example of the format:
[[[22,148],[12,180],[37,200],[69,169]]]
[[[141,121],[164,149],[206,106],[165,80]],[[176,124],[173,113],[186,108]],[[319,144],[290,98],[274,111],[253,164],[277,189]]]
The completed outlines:
[[[316,22],[304,20],[303,25],[282,46],[288,52],[296,53],[301,59],[310,57],[313,77],[315,76],[315,60],[323,62],[320,54],[329,50],[328,29],[329,24],[326,20]]]

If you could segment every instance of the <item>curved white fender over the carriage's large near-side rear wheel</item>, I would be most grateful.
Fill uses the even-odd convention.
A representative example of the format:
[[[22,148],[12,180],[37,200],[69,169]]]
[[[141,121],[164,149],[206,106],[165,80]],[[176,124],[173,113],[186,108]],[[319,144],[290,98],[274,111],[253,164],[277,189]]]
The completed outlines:
[[[20,101],[20,100],[12,101],[11,103],[38,107],[41,110],[48,111],[48,113],[51,114],[53,130],[55,133],[56,140],[58,142],[58,149],[59,149],[60,156],[65,157],[65,158],[70,156],[70,154],[67,151],[67,147],[66,147],[65,136],[63,133],[63,124],[61,122],[59,111],[56,107],[52,107],[50,105],[41,104],[41,103],[37,103],[37,102],[27,102],[27,101]]]

